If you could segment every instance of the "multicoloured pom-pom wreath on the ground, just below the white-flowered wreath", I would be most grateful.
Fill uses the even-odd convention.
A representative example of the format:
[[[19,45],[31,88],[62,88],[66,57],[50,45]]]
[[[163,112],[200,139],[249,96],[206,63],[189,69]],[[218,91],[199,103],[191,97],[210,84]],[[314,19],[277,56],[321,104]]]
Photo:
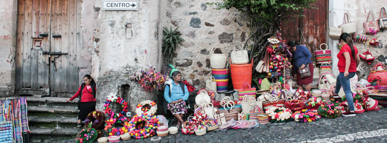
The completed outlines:
[[[159,124],[159,119],[150,114],[136,114],[130,122],[125,122],[125,126],[129,130],[128,133],[136,139],[153,136]]]

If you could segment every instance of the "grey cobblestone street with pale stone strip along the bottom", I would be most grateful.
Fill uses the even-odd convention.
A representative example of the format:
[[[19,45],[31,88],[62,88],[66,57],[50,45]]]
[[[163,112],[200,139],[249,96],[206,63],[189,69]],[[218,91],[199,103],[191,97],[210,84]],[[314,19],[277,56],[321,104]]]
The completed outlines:
[[[356,117],[340,116],[336,119],[321,118],[317,122],[268,123],[254,129],[231,129],[210,131],[203,136],[194,134],[170,134],[161,140],[130,139],[119,143],[385,143],[387,142],[387,123],[384,114],[387,108],[379,111],[356,114]],[[74,143],[75,139],[52,141],[50,143]],[[47,142],[48,143],[48,142]],[[95,141],[98,143],[98,141]]]

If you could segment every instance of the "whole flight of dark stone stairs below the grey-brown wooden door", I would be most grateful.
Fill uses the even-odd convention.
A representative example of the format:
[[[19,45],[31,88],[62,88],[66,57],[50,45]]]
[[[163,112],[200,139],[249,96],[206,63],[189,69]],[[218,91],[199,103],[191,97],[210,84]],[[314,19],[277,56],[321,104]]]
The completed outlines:
[[[26,99],[33,143],[70,138],[79,133],[80,128],[77,128],[79,99],[69,102],[66,102],[69,97],[26,96]]]

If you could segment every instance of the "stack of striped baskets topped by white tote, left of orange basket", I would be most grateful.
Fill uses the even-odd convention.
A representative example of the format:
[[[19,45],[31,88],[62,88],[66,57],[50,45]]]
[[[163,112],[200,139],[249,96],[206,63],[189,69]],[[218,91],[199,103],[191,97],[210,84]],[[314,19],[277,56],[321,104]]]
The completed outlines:
[[[215,54],[215,49],[220,49],[222,53]],[[229,69],[226,66],[227,55],[220,47],[214,47],[211,50],[210,63],[212,77],[215,78],[217,92],[226,92],[228,89]]]

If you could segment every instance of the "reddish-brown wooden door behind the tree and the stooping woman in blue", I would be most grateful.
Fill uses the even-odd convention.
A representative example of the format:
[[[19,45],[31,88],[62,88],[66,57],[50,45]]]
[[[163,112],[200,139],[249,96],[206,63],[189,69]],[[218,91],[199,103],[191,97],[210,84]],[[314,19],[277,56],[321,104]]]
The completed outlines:
[[[289,18],[281,30],[282,37],[287,41],[295,39],[301,44],[307,43],[312,54],[319,50],[321,43],[327,43],[328,0],[319,0],[313,4],[317,9],[305,10],[305,17]],[[300,36],[300,28],[305,39]]]

